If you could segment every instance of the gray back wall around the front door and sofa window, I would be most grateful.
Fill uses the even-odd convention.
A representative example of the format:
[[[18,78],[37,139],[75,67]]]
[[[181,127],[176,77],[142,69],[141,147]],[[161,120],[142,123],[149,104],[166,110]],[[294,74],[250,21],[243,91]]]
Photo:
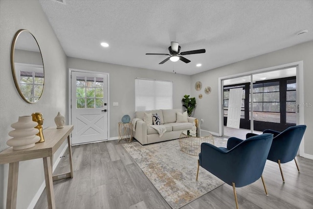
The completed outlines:
[[[118,122],[122,116],[134,118],[135,78],[173,81],[173,108],[182,108],[183,95],[190,93],[190,75],[140,69],[122,65],[95,62],[68,57],[70,69],[101,71],[110,73],[110,138],[118,136]],[[118,102],[118,106],[113,106]]]

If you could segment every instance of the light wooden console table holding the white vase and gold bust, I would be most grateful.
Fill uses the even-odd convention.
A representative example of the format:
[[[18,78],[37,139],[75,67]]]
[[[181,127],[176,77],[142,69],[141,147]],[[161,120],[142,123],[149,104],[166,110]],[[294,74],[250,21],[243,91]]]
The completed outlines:
[[[9,163],[8,190],[6,198],[6,208],[16,209],[19,162],[37,158],[43,158],[45,170],[45,189],[47,193],[48,208],[55,209],[53,181],[73,178],[72,149],[69,135],[73,130],[72,125],[57,129],[50,127],[43,131],[45,142],[36,143],[34,147],[13,150],[12,147],[0,152],[0,164]],[[53,154],[58,150],[62,143],[67,139],[70,172],[52,176]]]

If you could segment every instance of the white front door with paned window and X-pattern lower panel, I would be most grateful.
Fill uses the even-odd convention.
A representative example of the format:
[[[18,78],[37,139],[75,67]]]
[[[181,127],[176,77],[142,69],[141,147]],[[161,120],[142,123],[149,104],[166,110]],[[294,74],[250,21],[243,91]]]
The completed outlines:
[[[72,144],[108,140],[108,75],[71,71]]]

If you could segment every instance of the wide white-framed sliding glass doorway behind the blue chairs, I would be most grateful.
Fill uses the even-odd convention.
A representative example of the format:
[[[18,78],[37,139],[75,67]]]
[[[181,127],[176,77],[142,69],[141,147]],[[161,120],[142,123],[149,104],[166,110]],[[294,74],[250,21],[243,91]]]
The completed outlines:
[[[302,61],[221,77],[219,82],[220,104],[223,104],[220,106],[221,136],[227,136],[225,132],[238,133],[239,138],[245,139],[241,132],[260,134],[265,129],[282,131],[303,124],[303,109],[297,106],[303,102]],[[232,88],[243,88],[241,124],[237,130],[229,130],[225,126],[229,99],[227,91],[229,93]],[[303,143],[300,145],[300,154],[301,150]]]

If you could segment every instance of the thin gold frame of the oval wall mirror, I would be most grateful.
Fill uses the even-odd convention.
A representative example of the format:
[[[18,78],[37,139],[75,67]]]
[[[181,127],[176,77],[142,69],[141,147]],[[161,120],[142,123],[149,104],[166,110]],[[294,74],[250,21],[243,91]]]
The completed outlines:
[[[39,96],[37,96],[37,97],[34,96],[34,101],[32,101],[32,100],[30,101],[30,100],[27,99],[26,96],[22,93],[21,86],[20,86],[20,81],[19,81],[19,79],[17,78],[17,74],[16,74],[16,73],[17,73],[17,70],[16,70],[15,62],[14,62],[16,44],[17,44],[18,38],[20,37],[20,35],[21,35],[23,32],[29,33],[29,34],[34,38],[34,40],[35,40],[35,42],[36,42],[36,44],[37,44],[37,46],[38,46],[40,56],[41,56],[42,65],[40,65],[40,66],[42,66],[42,68],[43,68],[43,78],[44,78],[44,79],[43,79],[43,83],[40,84],[40,85],[43,86],[43,87],[42,87],[42,91],[41,91],[41,93],[40,93]],[[21,38],[20,38],[19,40],[20,40],[20,41],[23,41],[23,40],[21,40]],[[20,41],[19,41],[19,42],[20,42]],[[35,47],[35,46],[34,46],[34,47]],[[24,63],[24,64],[29,64],[29,63]],[[23,98],[23,100],[25,100],[27,103],[30,103],[30,104],[34,104],[34,103],[38,102],[39,99],[41,98],[43,92],[44,92],[44,86],[45,86],[45,67],[44,67],[44,60],[43,60],[43,56],[42,56],[42,53],[41,53],[39,44],[38,44],[36,38],[34,37],[34,35],[33,35],[31,32],[29,32],[28,30],[25,30],[25,29],[20,29],[20,30],[18,30],[18,31],[16,32],[14,38],[13,38],[13,42],[12,42],[12,45],[11,45],[11,69],[12,69],[12,74],[13,74],[13,79],[14,79],[15,86],[16,86],[18,92],[20,93],[21,97]],[[35,84],[33,84],[33,85],[35,85]],[[38,98],[38,100],[35,100],[35,98]]]

